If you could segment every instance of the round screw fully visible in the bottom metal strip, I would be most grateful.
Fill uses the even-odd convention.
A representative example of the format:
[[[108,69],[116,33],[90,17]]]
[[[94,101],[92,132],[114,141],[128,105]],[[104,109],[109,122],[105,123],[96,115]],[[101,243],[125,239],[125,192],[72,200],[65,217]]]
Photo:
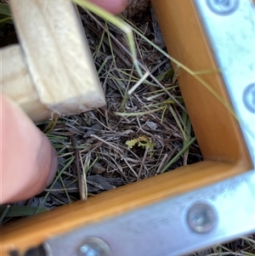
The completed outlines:
[[[195,203],[187,214],[187,221],[190,229],[196,233],[208,233],[216,224],[216,213],[206,203]]]

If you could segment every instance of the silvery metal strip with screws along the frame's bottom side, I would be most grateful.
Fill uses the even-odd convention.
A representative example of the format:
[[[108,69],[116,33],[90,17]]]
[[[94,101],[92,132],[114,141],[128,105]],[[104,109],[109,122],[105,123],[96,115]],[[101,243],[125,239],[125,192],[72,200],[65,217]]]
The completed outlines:
[[[254,187],[255,174],[252,170],[233,179],[51,238],[46,242],[48,255],[171,256],[254,232]],[[200,208],[201,205],[206,209]],[[78,254],[82,244],[94,238],[105,241],[111,253],[96,254],[92,250],[90,254]]]

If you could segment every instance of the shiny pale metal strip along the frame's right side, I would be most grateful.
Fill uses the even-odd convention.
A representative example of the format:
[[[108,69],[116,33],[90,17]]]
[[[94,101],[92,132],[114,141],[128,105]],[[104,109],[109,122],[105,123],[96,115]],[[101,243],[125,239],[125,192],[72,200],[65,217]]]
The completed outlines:
[[[252,0],[195,0],[255,165],[255,12]]]

